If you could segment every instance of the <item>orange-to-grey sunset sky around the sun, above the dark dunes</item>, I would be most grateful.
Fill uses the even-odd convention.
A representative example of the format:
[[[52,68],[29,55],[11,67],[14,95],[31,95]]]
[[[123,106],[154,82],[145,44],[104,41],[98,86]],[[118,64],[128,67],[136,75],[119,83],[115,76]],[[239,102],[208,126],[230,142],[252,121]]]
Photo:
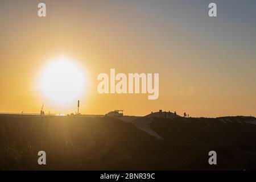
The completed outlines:
[[[243,16],[236,22],[228,13],[210,19],[203,9],[207,3],[181,9],[178,2],[45,2],[46,18],[37,16],[36,1],[0,3],[0,112],[39,113],[43,103],[46,113],[75,112],[76,101],[47,101],[37,85],[46,62],[67,55],[88,76],[82,114],[162,109],[192,117],[256,115],[255,22]],[[97,75],[110,68],[159,73],[158,100],[98,94]]]

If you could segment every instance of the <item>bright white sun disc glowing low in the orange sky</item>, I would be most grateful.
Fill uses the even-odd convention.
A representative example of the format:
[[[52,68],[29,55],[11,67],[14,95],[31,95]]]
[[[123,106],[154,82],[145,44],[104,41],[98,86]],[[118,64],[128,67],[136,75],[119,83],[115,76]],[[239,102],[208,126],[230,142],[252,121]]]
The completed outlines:
[[[82,69],[68,57],[57,57],[49,61],[39,81],[39,88],[44,96],[57,105],[79,100],[84,86]]]

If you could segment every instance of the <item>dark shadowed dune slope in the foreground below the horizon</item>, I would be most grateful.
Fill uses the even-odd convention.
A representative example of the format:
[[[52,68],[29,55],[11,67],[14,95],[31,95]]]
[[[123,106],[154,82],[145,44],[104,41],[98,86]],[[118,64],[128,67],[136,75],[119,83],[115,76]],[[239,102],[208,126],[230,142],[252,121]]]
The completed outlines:
[[[152,118],[160,140],[114,118],[2,115],[0,169],[256,169],[254,121]],[[41,150],[46,166],[38,165]]]

